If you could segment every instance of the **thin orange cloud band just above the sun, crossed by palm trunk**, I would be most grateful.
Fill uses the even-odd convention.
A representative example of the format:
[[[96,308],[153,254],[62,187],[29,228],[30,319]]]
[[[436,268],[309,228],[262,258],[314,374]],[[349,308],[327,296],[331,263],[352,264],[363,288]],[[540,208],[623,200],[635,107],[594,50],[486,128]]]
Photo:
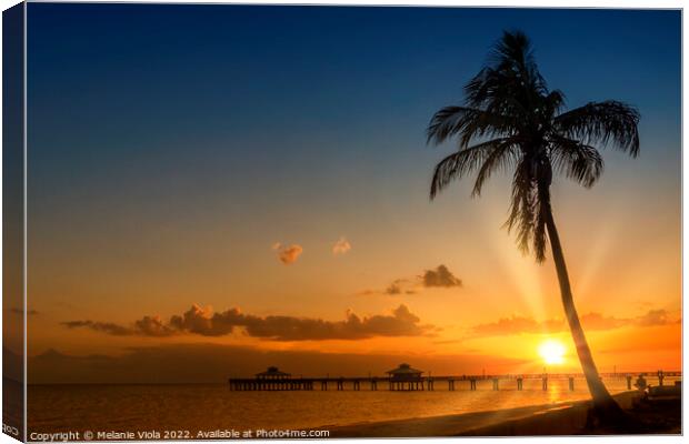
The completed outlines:
[[[637,317],[615,317],[591,312],[580,316],[581,325],[588,331],[605,331],[621,329],[625,326],[655,326],[666,325],[673,321],[666,310],[650,310]],[[557,333],[567,331],[567,322],[560,319],[536,321],[533,317],[512,315],[501,317],[497,322],[475,325],[472,332],[476,336],[500,336],[522,333]]]

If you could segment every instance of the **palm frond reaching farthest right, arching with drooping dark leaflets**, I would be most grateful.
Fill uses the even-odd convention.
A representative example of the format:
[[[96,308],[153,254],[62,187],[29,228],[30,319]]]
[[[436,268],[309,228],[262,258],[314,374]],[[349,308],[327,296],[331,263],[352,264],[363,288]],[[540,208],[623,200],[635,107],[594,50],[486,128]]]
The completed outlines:
[[[639,112],[626,103],[608,100],[590,102],[555,118],[556,130],[589,145],[600,144],[639,154]]]

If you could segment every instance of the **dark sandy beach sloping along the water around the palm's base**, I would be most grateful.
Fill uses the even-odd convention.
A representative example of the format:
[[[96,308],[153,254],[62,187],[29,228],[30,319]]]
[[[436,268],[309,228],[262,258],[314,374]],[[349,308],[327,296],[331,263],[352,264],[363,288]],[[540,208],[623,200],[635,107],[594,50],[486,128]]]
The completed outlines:
[[[620,406],[643,424],[641,433],[680,434],[681,400],[640,403],[639,392],[615,396]],[[553,403],[460,415],[350,424],[330,431],[331,437],[432,437],[597,435],[620,432],[587,425],[588,401]],[[638,433],[638,432],[637,432]]]

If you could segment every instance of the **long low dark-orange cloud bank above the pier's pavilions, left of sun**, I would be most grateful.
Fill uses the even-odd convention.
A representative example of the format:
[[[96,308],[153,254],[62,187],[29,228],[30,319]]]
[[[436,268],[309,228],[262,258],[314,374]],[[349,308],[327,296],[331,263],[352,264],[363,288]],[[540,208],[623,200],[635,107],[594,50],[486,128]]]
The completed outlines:
[[[124,326],[92,321],[63,322],[69,329],[86,327],[116,336],[171,336],[198,334],[222,336],[236,330],[244,334],[270,341],[324,341],[361,340],[375,336],[419,336],[430,334],[433,326],[420,324],[420,319],[401,304],[391,314],[377,314],[360,317],[347,312],[343,321],[294,316],[257,316],[241,313],[239,309],[213,313],[212,309],[192,305],[181,315],[173,315],[169,322],[158,316],[144,316]]]

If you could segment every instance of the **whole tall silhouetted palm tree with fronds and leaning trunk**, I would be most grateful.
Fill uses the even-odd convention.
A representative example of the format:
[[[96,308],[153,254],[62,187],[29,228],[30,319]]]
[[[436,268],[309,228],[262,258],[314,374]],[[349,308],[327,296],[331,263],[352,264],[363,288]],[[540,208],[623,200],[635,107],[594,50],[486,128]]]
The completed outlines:
[[[590,188],[603,171],[599,148],[639,154],[639,113],[622,102],[590,102],[563,111],[565,95],[549,90],[529,39],[505,32],[489,60],[465,85],[465,104],[436,112],[428,143],[456,139],[458,150],[436,165],[430,196],[451,181],[477,171],[471,195],[479,196],[495,172],[512,169],[508,231],[522,252],[546,259],[548,241],[560,283],[562,305],[586,382],[599,417],[619,416],[620,407],[600,381],[581,329],[550,202],[550,184],[561,174]]]

